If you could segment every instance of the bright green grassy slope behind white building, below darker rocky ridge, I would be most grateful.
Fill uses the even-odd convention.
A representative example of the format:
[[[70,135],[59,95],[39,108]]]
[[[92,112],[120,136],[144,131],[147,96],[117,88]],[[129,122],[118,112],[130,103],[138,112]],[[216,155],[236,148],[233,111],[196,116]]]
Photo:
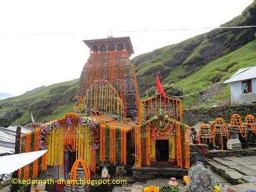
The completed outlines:
[[[203,88],[211,86],[212,84],[224,81],[228,77],[232,76],[232,74],[234,74],[239,68],[249,67],[252,65],[256,65],[256,40],[244,45],[236,51],[230,52],[221,58],[207,63],[207,65],[200,68],[200,70],[191,76],[185,77],[184,79],[174,83],[173,86],[181,88],[184,95],[195,93]],[[195,104],[199,97],[200,93],[184,97],[185,107]],[[217,95],[205,104],[218,104],[229,98],[230,89],[228,84],[226,84],[220,95]]]

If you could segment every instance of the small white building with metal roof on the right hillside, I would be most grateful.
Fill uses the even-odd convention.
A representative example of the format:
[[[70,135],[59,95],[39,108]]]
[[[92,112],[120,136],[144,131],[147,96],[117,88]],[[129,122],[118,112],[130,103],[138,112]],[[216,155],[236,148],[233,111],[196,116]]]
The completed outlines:
[[[224,83],[230,83],[232,105],[256,103],[256,66],[239,69]]]

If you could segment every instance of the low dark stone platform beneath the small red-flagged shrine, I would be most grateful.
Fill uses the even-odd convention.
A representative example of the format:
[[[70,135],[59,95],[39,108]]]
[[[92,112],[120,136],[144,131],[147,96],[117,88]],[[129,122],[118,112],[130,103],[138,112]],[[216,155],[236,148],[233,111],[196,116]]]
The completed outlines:
[[[156,168],[152,166],[138,168],[136,166],[133,166],[132,174],[134,180],[147,180],[157,177],[181,178],[184,175],[188,175],[188,170],[183,168],[177,168],[175,166],[165,168]]]

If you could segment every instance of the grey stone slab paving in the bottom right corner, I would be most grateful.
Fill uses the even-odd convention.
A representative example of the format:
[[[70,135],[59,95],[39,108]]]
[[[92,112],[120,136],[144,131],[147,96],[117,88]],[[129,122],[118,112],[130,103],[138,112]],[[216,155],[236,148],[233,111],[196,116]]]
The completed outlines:
[[[217,175],[234,185],[230,188],[239,192],[256,189],[256,156],[213,157],[205,160]]]

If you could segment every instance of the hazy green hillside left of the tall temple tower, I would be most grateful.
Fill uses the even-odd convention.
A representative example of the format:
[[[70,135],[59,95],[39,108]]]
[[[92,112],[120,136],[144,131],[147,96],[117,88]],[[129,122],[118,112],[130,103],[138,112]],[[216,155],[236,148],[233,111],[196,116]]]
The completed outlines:
[[[52,120],[72,111],[79,80],[40,86],[18,97],[0,100],[0,126]]]

